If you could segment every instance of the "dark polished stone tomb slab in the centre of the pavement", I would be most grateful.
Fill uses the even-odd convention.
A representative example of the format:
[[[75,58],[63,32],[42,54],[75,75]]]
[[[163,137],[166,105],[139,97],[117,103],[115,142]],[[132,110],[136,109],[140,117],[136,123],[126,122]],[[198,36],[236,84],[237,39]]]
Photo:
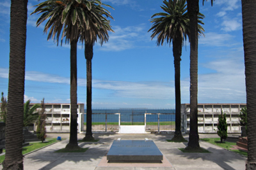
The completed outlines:
[[[161,162],[163,154],[152,140],[115,140],[107,154],[111,162]]]

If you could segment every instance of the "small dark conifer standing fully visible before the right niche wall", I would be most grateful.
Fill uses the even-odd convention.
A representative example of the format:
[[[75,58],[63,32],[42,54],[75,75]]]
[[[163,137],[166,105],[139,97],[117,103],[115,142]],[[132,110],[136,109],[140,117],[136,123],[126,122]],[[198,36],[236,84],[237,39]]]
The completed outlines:
[[[221,115],[219,115],[218,119],[218,136],[220,136],[220,142],[222,143],[223,139],[227,139],[228,134],[227,134],[227,119],[226,119],[226,113],[222,113],[221,110]]]

